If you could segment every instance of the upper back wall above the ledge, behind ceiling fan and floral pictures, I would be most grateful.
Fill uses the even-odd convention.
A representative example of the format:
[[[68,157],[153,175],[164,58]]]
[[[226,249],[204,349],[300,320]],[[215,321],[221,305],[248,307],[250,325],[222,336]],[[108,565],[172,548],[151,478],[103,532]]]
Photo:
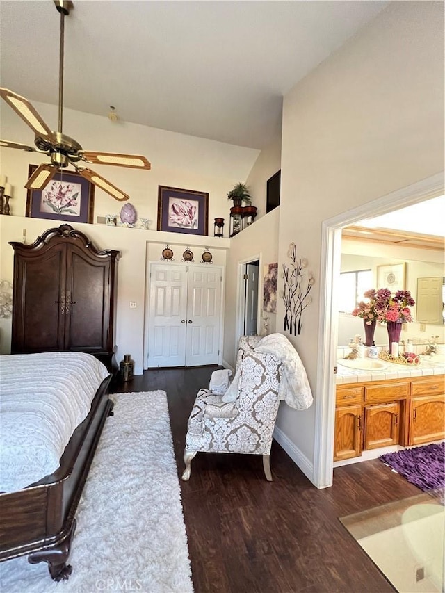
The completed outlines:
[[[44,120],[56,125],[56,106],[35,103]],[[33,146],[33,133],[15,112],[0,102],[0,137]],[[138,216],[152,220],[151,230],[156,230],[158,186],[171,186],[209,193],[209,234],[213,236],[213,219],[225,218],[229,227],[227,192],[236,181],[248,177],[259,154],[258,150],[186,136],[125,122],[113,123],[107,117],[64,110],[64,132],[81,143],[84,149],[107,152],[144,154],[152,163],[149,171],[86,165],[109,179],[130,195]],[[47,162],[48,157],[14,149],[0,149],[1,173],[15,188],[10,201],[11,213],[24,216],[29,163]],[[122,202],[117,202],[99,188],[95,190],[95,222],[97,216],[118,213]],[[227,233],[228,236],[228,233]]]

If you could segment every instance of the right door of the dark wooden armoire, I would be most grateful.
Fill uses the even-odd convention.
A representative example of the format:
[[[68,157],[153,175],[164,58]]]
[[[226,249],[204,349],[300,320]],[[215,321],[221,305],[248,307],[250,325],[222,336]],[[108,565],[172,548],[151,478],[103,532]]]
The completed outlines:
[[[109,316],[109,270],[92,264],[83,254],[69,252],[65,350],[106,350]]]

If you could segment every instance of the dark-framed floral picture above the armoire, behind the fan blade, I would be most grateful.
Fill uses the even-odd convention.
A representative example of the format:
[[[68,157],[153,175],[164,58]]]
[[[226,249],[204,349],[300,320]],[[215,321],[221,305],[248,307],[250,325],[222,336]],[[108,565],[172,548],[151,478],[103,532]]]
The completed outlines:
[[[37,165],[29,165],[31,177]],[[59,170],[41,190],[29,189],[26,195],[26,216],[93,222],[95,186],[75,171]]]

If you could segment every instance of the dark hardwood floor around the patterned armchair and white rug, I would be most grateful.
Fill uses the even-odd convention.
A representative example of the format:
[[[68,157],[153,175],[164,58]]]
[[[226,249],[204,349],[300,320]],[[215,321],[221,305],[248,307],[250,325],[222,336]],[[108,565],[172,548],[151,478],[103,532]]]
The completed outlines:
[[[215,368],[145,371],[114,389],[167,392],[179,476],[188,414]],[[273,482],[260,455],[198,453],[179,480],[195,592],[394,591],[339,517],[421,491],[379,460],[337,468],[318,490],[275,441],[270,466]]]

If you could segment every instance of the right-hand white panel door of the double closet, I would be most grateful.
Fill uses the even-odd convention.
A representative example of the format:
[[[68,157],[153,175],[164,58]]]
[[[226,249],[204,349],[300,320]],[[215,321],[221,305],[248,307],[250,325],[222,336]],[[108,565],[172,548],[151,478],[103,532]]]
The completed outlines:
[[[221,270],[188,266],[186,366],[218,364]]]

